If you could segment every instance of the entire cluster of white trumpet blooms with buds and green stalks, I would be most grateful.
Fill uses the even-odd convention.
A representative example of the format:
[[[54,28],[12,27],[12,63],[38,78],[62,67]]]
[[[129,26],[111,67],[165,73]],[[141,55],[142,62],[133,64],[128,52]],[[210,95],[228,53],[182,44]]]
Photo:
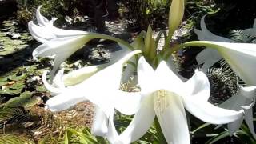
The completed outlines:
[[[146,34],[140,34],[132,44],[128,44],[104,34],[59,29],[53,24],[56,18],[49,21],[40,14],[40,8],[41,6],[38,7],[36,14],[38,25],[29,22],[29,30],[38,42],[42,42],[42,45],[34,50],[33,57],[54,56],[50,82],[47,81],[48,71],[42,75],[44,85],[54,96],[46,102],[47,110],[54,112],[66,110],[78,102],[90,101],[95,107],[92,134],[106,137],[110,143],[117,144],[130,143],[141,138],[154,122],[155,116],[158,118],[166,142],[190,143],[185,110],[203,122],[216,125],[228,124],[230,134],[238,130],[245,118],[255,135],[251,108],[255,99],[256,45],[235,43],[227,38],[215,36],[206,29],[202,19],[202,31],[195,30],[195,32],[200,40],[207,41],[186,42],[170,49],[171,35],[182,21],[183,0],[172,1],[170,31],[168,35],[165,34],[166,44],[160,52],[157,45],[158,38],[152,37],[150,26]],[[124,49],[128,48],[129,53],[125,50],[126,53],[122,58],[114,58],[114,62],[110,64],[88,66],[69,74],[63,74],[64,70],[58,70],[66,58],[94,38],[118,42]],[[248,87],[241,87],[238,94],[224,102],[222,106],[214,106],[208,102],[210,83],[203,71],[195,70],[192,78],[184,82],[174,67],[170,67],[171,61],[166,62],[174,50],[185,46],[211,48],[198,55],[198,62],[204,62],[207,68],[214,64],[215,59],[222,56]],[[217,52],[221,56],[207,59],[209,58],[207,54]],[[138,86],[141,88],[139,92],[119,90],[123,66],[132,58],[138,71]],[[114,126],[114,110],[126,115],[134,114],[130,125],[121,134],[118,134]]]

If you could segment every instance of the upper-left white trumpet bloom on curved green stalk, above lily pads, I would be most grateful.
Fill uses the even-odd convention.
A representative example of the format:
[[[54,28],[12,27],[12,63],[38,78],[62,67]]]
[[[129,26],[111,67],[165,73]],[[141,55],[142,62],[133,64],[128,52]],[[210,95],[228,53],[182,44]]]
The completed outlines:
[[[54,26],[54,21],[57,18],[52,18],[50,21],[42,16],[39,6],[36,13],[38,25],[30,21],[28,27],[30,34],[42,45],[38,46],[33,51],[33,58],[47,57],[54,55],[54,68],[50,73],[50,78],[53,77],[58,67],[62,62],[69,58],[71,54],[82,48],[94,38],[105,38],[114,40],[116,42],[123,42],[122,40],[110,37],[105,34],[90,33],[81,30],[63,30]]]

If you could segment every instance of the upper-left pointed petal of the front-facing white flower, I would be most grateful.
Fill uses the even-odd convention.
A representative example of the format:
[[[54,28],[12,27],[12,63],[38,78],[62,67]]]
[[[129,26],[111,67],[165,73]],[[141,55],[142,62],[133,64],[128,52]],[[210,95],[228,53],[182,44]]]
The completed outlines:
[[[154,79],[154,70],[150,66],[144,57],[139,58],[138,60],[138,84],[144,92],[152,92],[157,90],[152,83],[156,80]]]

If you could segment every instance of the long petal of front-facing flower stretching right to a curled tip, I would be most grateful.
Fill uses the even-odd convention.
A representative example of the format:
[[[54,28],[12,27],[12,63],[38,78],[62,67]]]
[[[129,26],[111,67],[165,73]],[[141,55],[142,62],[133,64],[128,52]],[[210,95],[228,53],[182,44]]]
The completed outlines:
[[[222,109],[210,104],[210,102],[198,100],[198,98],[194,98],[193,96],[182,98],[186,110],[190,111],[191,114],[201,119],[203,122],[224,124],[234,122],[243,116],[243,110],[234,111]]]

